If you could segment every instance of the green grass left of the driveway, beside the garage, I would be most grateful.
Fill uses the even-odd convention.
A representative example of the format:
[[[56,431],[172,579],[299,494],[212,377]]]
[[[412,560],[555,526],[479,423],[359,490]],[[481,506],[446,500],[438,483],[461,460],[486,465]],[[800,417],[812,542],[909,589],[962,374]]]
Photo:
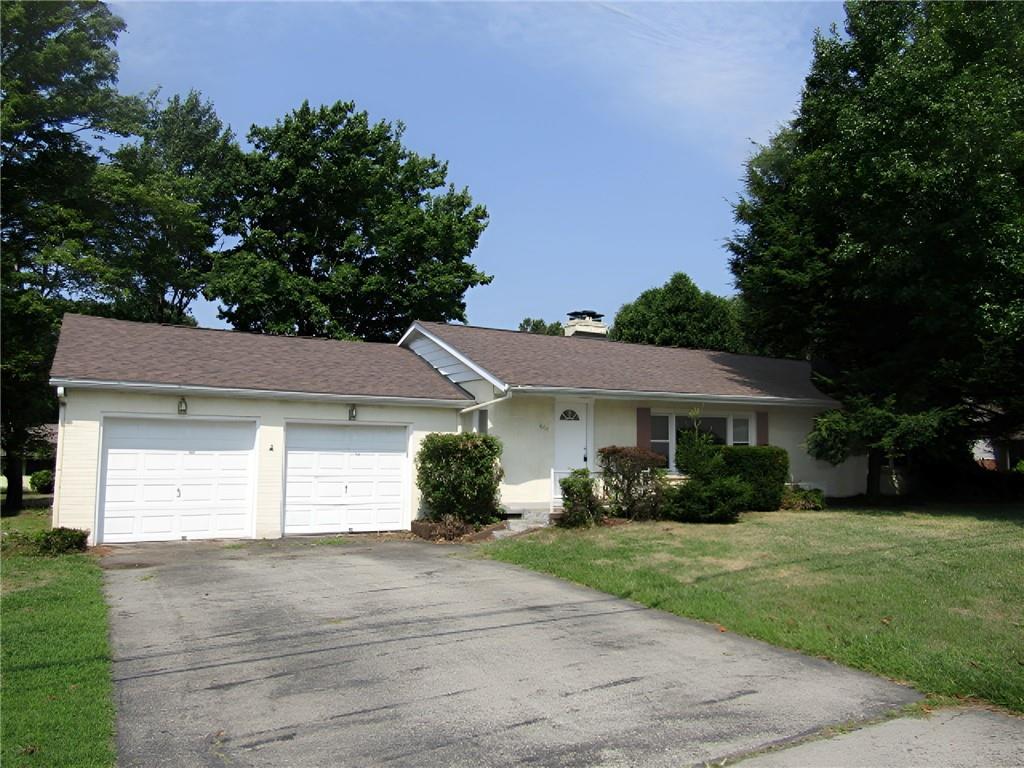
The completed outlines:
[[[49,525],[49,510],[4,530]],[[4,552],[0,581],[0,763],[111,766],[114,701],[101,573],[89,555]]]

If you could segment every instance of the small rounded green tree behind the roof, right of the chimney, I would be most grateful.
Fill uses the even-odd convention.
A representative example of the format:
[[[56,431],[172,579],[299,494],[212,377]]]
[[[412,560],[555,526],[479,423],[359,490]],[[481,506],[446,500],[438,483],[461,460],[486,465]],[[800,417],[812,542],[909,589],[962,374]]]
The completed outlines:
[[[615,314],[610,337],[616,341],[744,351],[735,299],[701,291],[683,272],[644,291]]]

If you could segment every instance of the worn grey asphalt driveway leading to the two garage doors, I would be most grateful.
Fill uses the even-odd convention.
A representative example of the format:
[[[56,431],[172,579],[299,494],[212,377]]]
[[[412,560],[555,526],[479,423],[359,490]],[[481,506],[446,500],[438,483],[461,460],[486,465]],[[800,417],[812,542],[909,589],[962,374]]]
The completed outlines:
[[[422,542],[104,557],[122,766],[679,766],[919,696]]]

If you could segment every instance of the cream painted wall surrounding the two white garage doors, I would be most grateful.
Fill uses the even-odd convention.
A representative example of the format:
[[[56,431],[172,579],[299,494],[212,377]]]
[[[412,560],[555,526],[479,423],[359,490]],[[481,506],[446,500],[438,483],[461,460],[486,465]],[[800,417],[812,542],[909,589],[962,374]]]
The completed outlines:
[[[53,524],[96,527],[96,497],[100,462],[100,425],[104,416],[174,418],[251,418],[258,420],[256,435],[257,538],[282,535],[284,504],[285,424],[289,420],[348,423],[348,404],[283,399],[188,396],[188,416],[177,417],[178,396],[146,395],[95,389],[66,391],[60,431],[59,489],[53,509]],[[408,519],[419,509],[413,459],[420,441],[429,432],[454,432],[457,411],[442,408],[359,404],[359,424],[401,424],[410,427],[409,479],[412,489]],[[270,447],[273,446],[271,451]]]

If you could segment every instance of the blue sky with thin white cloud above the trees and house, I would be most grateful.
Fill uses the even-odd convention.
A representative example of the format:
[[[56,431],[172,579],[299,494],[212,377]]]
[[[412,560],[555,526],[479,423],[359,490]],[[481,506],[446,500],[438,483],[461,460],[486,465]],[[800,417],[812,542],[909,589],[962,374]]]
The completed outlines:
[[[486,205],[468,321],[618,307],[676,271],[732,292],[752,142],[837,3],[113,3],[120,86],[196,88],[240,137],[303,99],[401,120]],[[207,302],[203,326],[223,326]]]

